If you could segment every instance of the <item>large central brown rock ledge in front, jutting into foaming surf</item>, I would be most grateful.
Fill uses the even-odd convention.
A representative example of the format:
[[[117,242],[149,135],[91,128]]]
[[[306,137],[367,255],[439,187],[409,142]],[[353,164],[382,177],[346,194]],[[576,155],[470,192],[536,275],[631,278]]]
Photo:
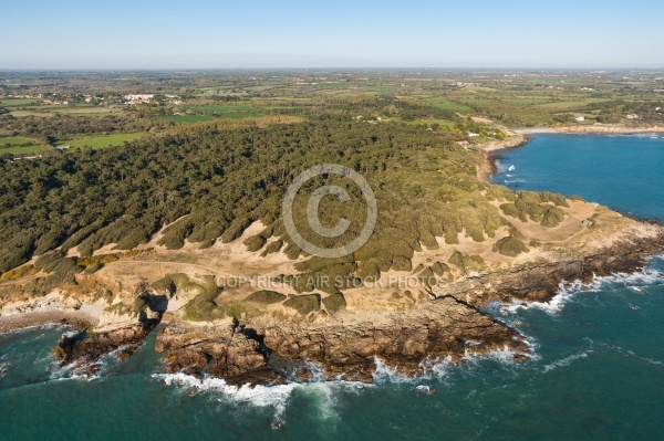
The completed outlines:
[[[237,385],[307,378],[309,363],[320,365],[328,379],[372,381],[376,358],[403,375],[415,375],[427,369],[427,360],[456,361],[467,350],[484,354],[506,347],[528,353],[516,330],[450,297],[355,324],[264,325],[258,319],[236,330],[188,330],[180,324],[164,329],[156,345],[158,351],[169,351],[168,372],[207,374]]]

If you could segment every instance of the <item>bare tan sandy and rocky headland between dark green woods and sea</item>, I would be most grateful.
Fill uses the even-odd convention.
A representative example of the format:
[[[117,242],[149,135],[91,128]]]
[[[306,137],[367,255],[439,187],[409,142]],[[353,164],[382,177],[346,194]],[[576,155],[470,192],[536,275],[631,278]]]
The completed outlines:
[[[519,135],[484,147],[526,140]],[[490,161],[484,151],[479,159],[478,175],[486,178]],[[442,360],[491,351],[523,361],[530,351],[525,337],[485,306],[549,302],[566,283],[640,271],[664,250],[661,225],[579,199],[487,188],[481,197],[501,213],[502,225],[488,237],[433,238],[412,258],[391,259],[377,285],[298,290],[284,274],[297,274],[307,259],[267,253],[278,241],[252,249],[257,232],[264,231],[255,222],[239,238],[206,249],[166,249],[157,234],[132,252],[97,250],[85,258],[97,265],[94,272],[66,267],[66,277],[41,295],[30,290],[49,279],[34,260],[0,281],[0,330],[43,323],[75,327],[53,355],[86,375],[97,372],[101,357],[125,359],[157,332],[155,349],[168,374],[231,385],[372,381],[378,364],[413,376]],[[259,274],[280,284],[259,290],[220,282]],[[395,276],[416,283],[393,284]]]

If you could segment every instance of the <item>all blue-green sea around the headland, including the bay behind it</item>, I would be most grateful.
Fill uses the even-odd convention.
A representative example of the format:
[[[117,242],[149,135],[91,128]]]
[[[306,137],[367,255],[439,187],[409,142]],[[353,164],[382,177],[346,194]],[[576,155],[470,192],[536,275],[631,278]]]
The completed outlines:
[[[505,171],[496,180],[664,219],[663,158],[664,139],[536,136],[500,155]],[[627,185],[652,191],[624,196]],[[160,375],[154,335],[122,364],[108,357],[100,378],[76,379],[49,356],[62,329],[3,334],[0,440],[664,439],[664,260],[641,274],[563,291],[549,305],[488,311],[528,336],[530,360],[468,357],[414,379],[380,369],[376,385],[362,388],[321,382],[230,392],[208,380],[190,396],[196,380]]]

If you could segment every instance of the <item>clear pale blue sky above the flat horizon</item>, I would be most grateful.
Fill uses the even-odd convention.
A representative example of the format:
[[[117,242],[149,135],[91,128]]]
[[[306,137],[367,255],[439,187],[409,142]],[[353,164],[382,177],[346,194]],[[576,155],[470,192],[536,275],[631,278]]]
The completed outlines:
[[[0,69],[664,67],[664,1],[0,3]]]

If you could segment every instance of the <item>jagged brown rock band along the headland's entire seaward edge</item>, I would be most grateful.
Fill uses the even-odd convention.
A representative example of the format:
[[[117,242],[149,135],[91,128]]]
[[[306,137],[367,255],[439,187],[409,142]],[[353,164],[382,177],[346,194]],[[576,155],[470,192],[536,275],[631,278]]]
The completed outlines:
[[[371,382],[381,363],[400,375],[422,375],[436,363],[468,354],[529,354],[517,329],[480,312],[489,302],[548,302],[561,284],[642,270],[664,251],[664,231],[624,239],[593,253],[569,252],[559,260],[497,271],[430,291],[430,301],[398,313],[356,317],[345,312],[318,323],[256,317],[196,323],[174,319],[156,338],[166,372],[224,378],[230,385],[346,379]],[[117,329],[65,335],[53,354],[63,365],[94,375],[100,357],[129,357],[158,319]],[[74,323],[70,323],[74,324]],[[85,325],[80,322],[79,325]]]

